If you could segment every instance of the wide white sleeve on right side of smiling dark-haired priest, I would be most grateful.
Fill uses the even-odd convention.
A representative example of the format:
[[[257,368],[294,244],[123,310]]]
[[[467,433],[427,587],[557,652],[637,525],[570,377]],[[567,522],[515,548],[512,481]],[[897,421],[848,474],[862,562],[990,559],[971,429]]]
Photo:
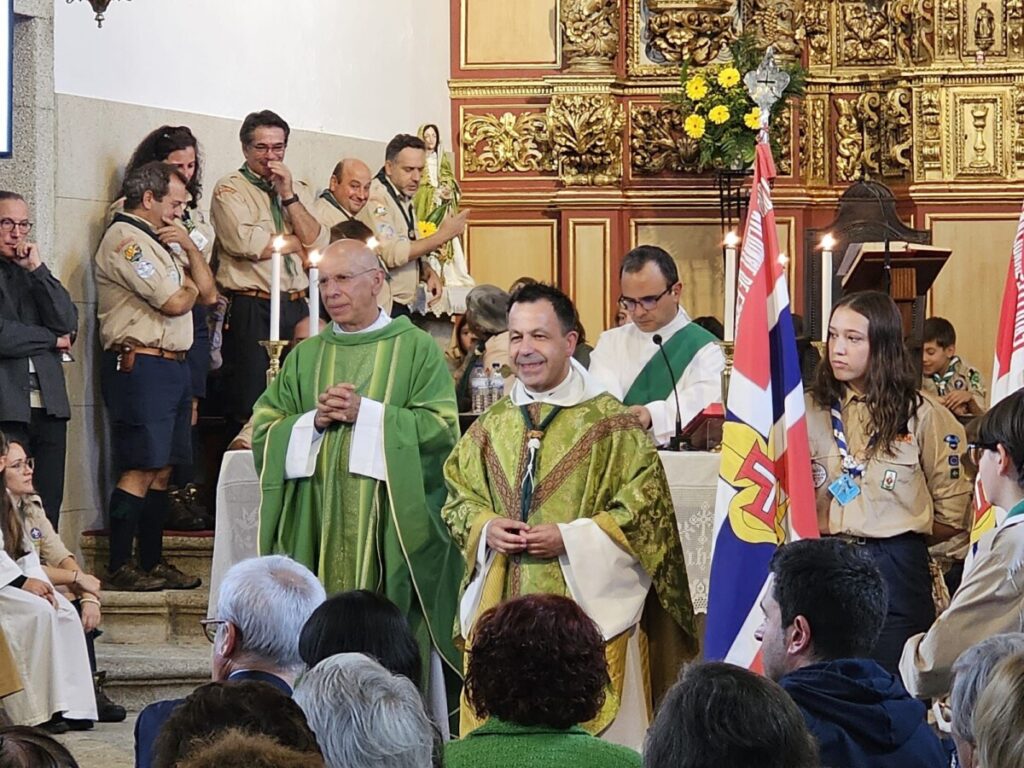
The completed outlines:
[[[591,519],[559,523],[565,554],[558,558],[565,586],[605,640],[640,621],[650,577],[640,561]]]

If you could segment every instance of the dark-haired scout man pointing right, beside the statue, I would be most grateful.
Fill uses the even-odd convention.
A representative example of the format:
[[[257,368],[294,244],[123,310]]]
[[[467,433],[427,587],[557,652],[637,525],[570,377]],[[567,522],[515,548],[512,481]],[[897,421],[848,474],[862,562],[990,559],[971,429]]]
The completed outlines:
[[[440,293],[437,274],[421,257],[462,234],[469,216],[468,210],[462,211],[444,219],[433,234],[420,237],[413,196],[420,188],[426,163],[423,139],[408,133],[392,138],[384,151],[384,167],[370,184],[370,200],[359,213],[359,219],[374,230],[378,253],[391,272],[393,316],[409,313],[421,279],[433,296]]]

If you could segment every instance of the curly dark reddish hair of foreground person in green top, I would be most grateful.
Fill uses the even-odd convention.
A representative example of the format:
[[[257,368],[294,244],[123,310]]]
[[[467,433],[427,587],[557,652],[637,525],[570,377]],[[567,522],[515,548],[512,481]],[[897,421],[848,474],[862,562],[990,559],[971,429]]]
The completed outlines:
[[[480,717],[568,728],[600,712],[607,684],[604,639],[566,597],[507,600],[473,627],[466,697]]]

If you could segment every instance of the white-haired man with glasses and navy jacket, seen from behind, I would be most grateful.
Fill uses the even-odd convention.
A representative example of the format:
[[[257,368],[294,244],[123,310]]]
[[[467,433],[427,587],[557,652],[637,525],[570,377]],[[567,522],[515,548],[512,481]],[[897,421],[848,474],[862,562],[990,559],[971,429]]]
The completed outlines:
[[[303,669],[299,635],[325,597],[316,577],[287,557],[254,557],[231,566],[220,585],[216,616],[200,622],[213,643],[213,681],[257,680],[291,695]],[[139,713],[135,768],[153,764],[157,735],[182,701],[156,701]]]

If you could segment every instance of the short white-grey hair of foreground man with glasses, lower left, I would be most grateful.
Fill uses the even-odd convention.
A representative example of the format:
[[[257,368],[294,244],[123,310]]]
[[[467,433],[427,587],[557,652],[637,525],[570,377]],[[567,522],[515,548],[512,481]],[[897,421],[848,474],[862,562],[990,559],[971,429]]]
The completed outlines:
[[[327,594],[312,571],[282,555],[236,563],[220,584],[217,615],[239,629],[237,660],[299,670],[299,634]]]

